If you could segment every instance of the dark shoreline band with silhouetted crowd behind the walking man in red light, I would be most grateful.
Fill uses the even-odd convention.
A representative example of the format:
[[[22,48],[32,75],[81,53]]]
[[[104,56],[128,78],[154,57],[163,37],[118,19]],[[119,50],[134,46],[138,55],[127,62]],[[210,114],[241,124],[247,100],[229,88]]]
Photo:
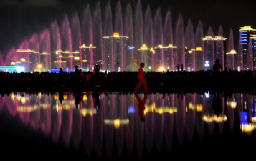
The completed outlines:
[[[137,84],[137,72],[111,72],[99,73],[99,75],[94,75],[92,72],[0,72],[0,78],[1,92],[132,93]],[[146,81],[150,93],[228,91],[254,94],[256,90],[255,71],[147,72]],[[139,92],[142,92],[142,88]]]

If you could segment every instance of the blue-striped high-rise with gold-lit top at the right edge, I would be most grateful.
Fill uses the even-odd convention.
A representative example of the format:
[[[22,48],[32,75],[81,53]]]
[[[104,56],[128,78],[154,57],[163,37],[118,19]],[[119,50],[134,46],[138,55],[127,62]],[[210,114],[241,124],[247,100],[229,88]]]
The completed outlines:
[[[253,62],[256,61],[256,42],[255,42],[255,34],[256,29],[253,29],[251,26],[240,27],[239,29],[239,44],[242,45],[242,52],[239,54],[243,54],[243,68],[244,70],[248,70],[248,45],[250,43],[250,39],[253,40],[252,50],[253,50]],[[254,43],[255,42],[255,43]],[[255,59],[255,61],[254,61]],[[253,63],[255,64],[255,63]],[[253,65],[254,66],[254,65]],[[253,67],[254,68],[254,67]]]

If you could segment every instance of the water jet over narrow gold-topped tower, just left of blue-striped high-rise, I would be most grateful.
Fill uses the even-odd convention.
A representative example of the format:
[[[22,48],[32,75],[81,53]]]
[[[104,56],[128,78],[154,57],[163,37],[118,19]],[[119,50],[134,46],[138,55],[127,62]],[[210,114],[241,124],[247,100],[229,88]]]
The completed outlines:
[[[237,53],[235,52],[235,49],[234,49],[234,34],[232,29],[230,29],[230,32],[229,32],[227,52],[228,53],[225,54],[226,56],[225,66],[227,70],[235,70],[235,55],[237,55]]]

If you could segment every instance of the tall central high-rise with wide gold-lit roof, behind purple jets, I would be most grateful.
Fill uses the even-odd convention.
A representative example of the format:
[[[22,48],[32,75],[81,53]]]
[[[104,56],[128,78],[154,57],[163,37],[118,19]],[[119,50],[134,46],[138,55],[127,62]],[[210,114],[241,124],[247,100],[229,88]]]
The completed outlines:
[[[128,36],[119,36],[119,33],[114,33],[113,36],[103,37],[106,70],[119,72],[126,68],[124,57],[126,57],[127,53],[127,40]]]

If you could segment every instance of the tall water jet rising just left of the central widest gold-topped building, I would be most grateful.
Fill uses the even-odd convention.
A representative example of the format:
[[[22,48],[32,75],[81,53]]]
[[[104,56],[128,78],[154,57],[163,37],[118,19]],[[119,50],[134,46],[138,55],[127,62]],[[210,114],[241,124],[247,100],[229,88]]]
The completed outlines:
[[[99,2],[96,4],[96,8],[92,12],[92,35],[92,42],[97,47],[95,50],[96,54],[94,57],[94,63],[98,63],[103,61],[102,19],[101,7]]]

